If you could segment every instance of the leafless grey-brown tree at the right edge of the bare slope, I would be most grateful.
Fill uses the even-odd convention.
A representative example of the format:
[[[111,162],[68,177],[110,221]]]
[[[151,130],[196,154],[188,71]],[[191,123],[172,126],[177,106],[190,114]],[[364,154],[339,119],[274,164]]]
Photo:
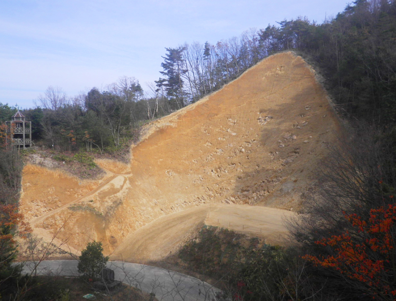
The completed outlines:
[[[289,221],[289,230],[300,242],[312,243],[346,227],[343,212],[367,216],[370,208],[384,205],[382,182],[395,187],[396,174],[389,145],[380,133],[364,127],[352,138],[329,146],[330,156],[318,170],[318,181],[305,193],[304,211]],[[385,141],[386,144],[386,141]]]

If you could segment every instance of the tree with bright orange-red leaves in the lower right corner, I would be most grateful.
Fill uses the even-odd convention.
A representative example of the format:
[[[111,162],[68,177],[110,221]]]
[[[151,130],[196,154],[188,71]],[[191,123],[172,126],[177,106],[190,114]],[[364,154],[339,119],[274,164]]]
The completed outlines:
[[[356,231],[315,242],[330,255],[303,258],[333,269],[373,299],[396,300],[396,203],[371,209],[366,219],[355,213],[344,216]]]

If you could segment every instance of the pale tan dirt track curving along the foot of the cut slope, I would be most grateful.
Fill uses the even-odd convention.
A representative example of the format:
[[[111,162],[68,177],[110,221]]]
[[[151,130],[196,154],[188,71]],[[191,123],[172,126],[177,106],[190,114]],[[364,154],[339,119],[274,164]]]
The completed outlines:
[[[165,215],[127,236],[110,256],[133,262],[160,260],[183,244],[204,223],[262,237],[267,243],[285,244],[287,210],[246,205],[201,205]],[[144,237],[144,239],[142,239]]]

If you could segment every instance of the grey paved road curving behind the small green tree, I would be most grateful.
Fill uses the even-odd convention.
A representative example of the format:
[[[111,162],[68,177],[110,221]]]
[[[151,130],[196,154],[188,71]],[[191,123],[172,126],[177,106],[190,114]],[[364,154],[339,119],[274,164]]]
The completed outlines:
[[[31,273],[34,264],[27,262],[23,273]],[[154,292],[159,301],[212,301],[219,289],[197,278],[137,263],[109,261],[116,280],[135,286],[143,292]],[[77,276],[77,260],[45,260],[38,275]]]

